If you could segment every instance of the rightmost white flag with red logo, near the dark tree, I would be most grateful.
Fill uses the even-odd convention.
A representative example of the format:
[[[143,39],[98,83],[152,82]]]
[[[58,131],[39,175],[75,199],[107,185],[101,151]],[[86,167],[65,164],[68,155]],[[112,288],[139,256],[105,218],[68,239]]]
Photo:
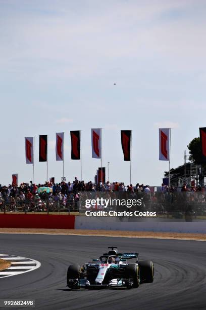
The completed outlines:
[[[170,160],[170,128],[159,128],[159,160]]]

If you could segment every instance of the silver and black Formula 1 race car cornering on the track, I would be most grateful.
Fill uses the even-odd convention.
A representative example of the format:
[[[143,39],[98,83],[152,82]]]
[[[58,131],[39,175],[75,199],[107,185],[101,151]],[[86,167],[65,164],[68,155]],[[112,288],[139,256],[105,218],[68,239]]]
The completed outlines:
[[[108,253],[81,265],[70,265],[67,286],[80,288],[137,288],[154,280],[154,264],[150,260],[139,261],[138,253],[118,253],[117,247],[108,247]],[[135,259],[134,263],[128,263]]]

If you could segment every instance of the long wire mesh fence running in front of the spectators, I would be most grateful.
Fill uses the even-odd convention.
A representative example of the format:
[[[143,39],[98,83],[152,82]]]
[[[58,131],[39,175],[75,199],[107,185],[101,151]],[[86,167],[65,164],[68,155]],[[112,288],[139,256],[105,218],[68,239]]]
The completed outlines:
[[[59,213],[85,215],[86,200],[102,198],[105,200],[119,200],[114,206],[111,203],[107,206],[108,210],[115,211],[149,211],[156,212],[159,217],[172,217],[181,219],[185,216],[192,218],[206,219],[206,193],[205,192],[80,192],[77,196],[69,196],[68,199],[58,199],[56,196],[47,196],[39,199],[20,199],[18,197],[5,198],[0,201],[0,212],[2,213]],[[131,200],[141,200],[140,206],[122,205],[122,201],[127,203]],[[90,208],[105,210],[104,202]]]

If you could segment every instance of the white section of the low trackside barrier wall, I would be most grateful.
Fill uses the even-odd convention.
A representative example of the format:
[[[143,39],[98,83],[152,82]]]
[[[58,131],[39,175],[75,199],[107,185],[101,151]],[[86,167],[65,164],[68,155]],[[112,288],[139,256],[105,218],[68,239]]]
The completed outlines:
[[[206,234],[206,221],[197,222],[122,222],[118,218],[75,216],[75,229],[191,232]]]

